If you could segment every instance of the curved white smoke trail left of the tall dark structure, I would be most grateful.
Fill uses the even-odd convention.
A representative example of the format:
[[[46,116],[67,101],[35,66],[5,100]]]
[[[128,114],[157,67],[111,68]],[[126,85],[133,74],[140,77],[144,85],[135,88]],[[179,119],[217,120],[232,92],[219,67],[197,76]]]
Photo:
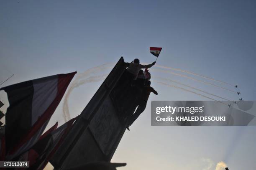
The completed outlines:
[[[96,82],[96,81],[101,81],[105,75],[102,76],[91,76],[87,79],[84,79],[88,76],[90,76],[91,74],[96,74],[100,71],[104,71],[106,69],[111,68],[111,65],[113,65],[114,63],[106,63],[106,64],[102,64],[100,66],[96,66],[93,67],[91,69],[88,69],[82,73],[78,73],[75,76],[75,79],[71,82],[71,84],[69,85],[69,89],[66,92],[66,95],[64,96],[64,102],[63,102],[63,117],[64,117],[64,121],[67,122],[68,120],[70,120],[70,114],[69,114],[69,107],[68,107],[68,98],[71,94],[71,92],[74,90],[74,88],[77,88],[78,86],[81,86],[82,84],[86,84],[86,83],[90,83],[90,82]],[[110,65],[110,66],[108,66]],[[82,80],[81,80],[82,79]]]

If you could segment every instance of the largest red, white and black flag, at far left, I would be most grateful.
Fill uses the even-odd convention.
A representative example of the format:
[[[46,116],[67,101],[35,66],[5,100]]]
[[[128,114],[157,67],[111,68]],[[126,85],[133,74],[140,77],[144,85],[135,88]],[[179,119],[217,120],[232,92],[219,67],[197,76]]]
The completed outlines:
[[[10,103],[5,115],[7,160],[37,142],[76,73],[57,74],[0,89],[5,90]]]

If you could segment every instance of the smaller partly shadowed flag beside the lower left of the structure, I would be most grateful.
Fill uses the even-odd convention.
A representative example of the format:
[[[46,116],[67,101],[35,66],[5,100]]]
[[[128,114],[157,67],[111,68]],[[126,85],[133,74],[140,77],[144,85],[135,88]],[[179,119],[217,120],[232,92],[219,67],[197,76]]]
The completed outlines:
[[[56,130],[45,135],[45,137],[43,137],[36,143],[36,145],[33,146],[33,152],[36,152],[39,157],[37,158],[36,162],[33,163],[33,165],[29,165],[28,170],[44,169],[51,157],[63,142],[64,138],[67,136],[76,119],[77,117],[69,120],[65,124],[58,127]],[[28,161],[31,162],[31,160]]]

